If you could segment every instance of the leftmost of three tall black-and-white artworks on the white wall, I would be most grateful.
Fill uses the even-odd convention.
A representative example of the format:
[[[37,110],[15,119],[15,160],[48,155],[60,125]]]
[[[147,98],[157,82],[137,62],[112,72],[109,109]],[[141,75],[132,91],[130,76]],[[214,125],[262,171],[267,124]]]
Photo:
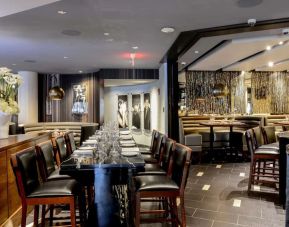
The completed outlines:
[[[117,121],[119,128],[128,128],[128,102],[127,95],[118,96]]]

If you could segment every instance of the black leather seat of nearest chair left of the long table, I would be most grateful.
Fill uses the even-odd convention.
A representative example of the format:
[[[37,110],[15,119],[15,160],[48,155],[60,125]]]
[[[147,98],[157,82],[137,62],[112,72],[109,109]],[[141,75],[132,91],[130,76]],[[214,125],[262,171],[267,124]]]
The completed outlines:
[[[76,180],[47,181],[36,187],[27,198],[71,196],[78,189]]]

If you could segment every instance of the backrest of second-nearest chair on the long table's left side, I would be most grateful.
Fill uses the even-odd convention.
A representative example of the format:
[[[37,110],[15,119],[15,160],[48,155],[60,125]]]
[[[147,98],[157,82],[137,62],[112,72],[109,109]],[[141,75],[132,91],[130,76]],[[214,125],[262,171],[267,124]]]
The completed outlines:
[[[35,146],[37,153],[38,166],[43,181],[55,171],[55,159],[53,154],[53,146],[50,140],[37,144]]]

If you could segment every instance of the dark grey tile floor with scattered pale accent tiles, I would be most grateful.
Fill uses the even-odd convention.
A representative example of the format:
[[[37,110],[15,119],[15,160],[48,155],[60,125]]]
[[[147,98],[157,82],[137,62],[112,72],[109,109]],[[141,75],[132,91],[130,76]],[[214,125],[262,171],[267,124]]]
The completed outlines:
[[[267,188],[253,187],[254,192],[248,195],[248,173],[249,163],[192,165],[185,193],[187,226],[284,227],[285,210],[278,204],[278,194]],[[28,220],[31,226],[31,215]]]

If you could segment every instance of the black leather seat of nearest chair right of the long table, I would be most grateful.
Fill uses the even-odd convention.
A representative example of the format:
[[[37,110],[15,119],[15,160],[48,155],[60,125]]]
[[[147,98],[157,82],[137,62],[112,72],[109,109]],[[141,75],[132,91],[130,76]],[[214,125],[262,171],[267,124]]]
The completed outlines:
[[[135,177],[136,191],[179,190],[179,186],[167,176],[145,175]]]

